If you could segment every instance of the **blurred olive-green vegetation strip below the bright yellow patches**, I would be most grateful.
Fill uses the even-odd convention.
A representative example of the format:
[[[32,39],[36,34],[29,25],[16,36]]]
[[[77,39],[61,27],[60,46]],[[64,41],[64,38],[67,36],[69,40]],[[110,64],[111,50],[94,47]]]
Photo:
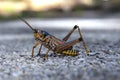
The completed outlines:
[[[62,10],[51,10],[45,12],[32,12],[32,11],[23,11],[18,14],[11,16],[0,16],[0,20],[13,20],[17,19],[17,16],[22,16],[24,18],[35,17],[35,18],[61,18],[61,17],[72,17],[81,14],[82,8],[75,8],[73,11],[63,12]]]

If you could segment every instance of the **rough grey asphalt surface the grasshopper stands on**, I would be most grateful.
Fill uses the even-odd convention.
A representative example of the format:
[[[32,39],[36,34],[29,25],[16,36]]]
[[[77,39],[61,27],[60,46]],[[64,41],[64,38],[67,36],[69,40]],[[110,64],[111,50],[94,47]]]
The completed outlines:
[[[45,30],[62,39],[70,29]],[[80,51],[76,57],[49,52],[48,60],[43,61],[46,48],[41,57],[31,57],[35,43],[31,30],[0,27],[0,80],[120,80],[120,30],[82,29],[82,34],[88,56],[80,43],[73,47]],[[78,37],[75,31],[69,41]]]

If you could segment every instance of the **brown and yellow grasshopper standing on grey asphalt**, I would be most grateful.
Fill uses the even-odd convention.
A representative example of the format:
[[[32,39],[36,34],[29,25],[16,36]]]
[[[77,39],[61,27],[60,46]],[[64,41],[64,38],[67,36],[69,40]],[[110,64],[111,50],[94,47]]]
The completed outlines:
[[[61,40],[56,38],[55,36],[49,34],[48,32],[44,31],[44,30],[38,30],[38,29],[34,29],[32,28],[32,26],[23,18],[20,18],[24,23],[26,23],[29,28],[32,29],[33,33],[34,33],[34,38],[36,40],[36,43],[34,44],[33,48],[32,48],[32,57],[34,56],[34,49],[41,44],[40,48],[39,48],[39,52],[36,56],[40,56],[40,52],[42,49],[42,46],[46,47],[48,50],[44,56],[44,60],[46,60],[48,58],[48,53],[49,51],[53,51],[55,54],[62,54],[62,55],[68,55],[68,56],[77,56],[79,55],[79,52],[76,50],[73,50],[72,47],[81,42],[83,43],[83,46],[85,48],[86,54],[89,53],[89,50],[87,49],[87,46],[84,42],[84,39],[82,37],[82,33],[80,31],[79,26],[75,25],[73,27],[73,29]],[[75,39],[73,41],[67,42],[67,40],[69,39],[69,37],[71,36],[71,34],[78,29],[80,38]]]

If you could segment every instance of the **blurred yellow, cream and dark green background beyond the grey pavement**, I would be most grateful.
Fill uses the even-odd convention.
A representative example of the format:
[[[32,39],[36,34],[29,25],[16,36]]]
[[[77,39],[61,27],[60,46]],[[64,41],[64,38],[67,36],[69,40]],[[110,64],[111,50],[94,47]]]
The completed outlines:
[[[56,12],[80,13],[86,10],[119,12],[120,0],[0,0],[0,16],[28,15],[45,17]],[[34,15],[33,15],[34,14]],[[37,15],[35,15],[37,14]],[[58,16],[57,14],[54,16]]]

